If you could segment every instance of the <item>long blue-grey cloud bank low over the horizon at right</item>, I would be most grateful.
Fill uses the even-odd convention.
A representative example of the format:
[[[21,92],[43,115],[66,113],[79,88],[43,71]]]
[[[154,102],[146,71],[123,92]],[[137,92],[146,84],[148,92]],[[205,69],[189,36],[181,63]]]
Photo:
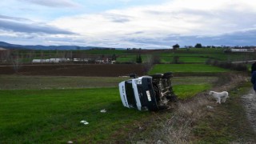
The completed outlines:
[[[196,43],[202,43],[203,46],[256,46],[256,29],[237,31],[218,36],[182,36],[168,35],[165,38],[123,38],[124,41],[136,43],[138,45],[151,45],[170,47],[178,43],[180,46],[194,46]]]

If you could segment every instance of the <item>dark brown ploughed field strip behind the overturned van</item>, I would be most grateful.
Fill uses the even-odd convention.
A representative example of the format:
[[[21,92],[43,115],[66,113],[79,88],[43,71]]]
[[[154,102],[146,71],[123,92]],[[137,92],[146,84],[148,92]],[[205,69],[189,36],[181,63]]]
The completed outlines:
[[[26,65],[21,66],[18,74],[53,75],[53,76],[86,76],[86,77],[118,77],[129,74],[144,74],[144,66],[136,64],[86,64],[86,65]],[[1,66],[0,74],[15,74],[12,66]]]

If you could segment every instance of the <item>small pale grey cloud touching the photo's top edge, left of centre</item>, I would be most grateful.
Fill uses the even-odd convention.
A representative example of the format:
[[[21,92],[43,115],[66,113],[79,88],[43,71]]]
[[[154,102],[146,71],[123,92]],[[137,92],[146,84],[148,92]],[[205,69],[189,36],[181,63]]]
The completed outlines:
[[[70,8],[79,7],[78,3],[72,2],[70,0],[22,0],[22,1],[34,3],[40,6],[48,6],[48,7],[70,7]]]

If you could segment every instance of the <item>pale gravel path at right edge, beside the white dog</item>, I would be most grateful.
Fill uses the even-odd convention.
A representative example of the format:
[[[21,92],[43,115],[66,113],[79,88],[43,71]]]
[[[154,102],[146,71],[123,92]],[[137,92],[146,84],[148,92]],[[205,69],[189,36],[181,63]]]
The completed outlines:
[[[256,94],[253,89],[242,96],[242,102],[246,107],[247,117],[256,132]]]

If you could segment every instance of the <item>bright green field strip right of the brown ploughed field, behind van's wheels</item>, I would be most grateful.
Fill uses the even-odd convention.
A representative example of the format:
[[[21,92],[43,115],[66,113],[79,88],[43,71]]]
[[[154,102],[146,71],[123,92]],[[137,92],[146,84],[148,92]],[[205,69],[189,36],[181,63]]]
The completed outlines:
[[[172,72],[228,72],[230,70],[222,69],[216,66],[205,64],[158,64],[150,70],[149,74]]]

